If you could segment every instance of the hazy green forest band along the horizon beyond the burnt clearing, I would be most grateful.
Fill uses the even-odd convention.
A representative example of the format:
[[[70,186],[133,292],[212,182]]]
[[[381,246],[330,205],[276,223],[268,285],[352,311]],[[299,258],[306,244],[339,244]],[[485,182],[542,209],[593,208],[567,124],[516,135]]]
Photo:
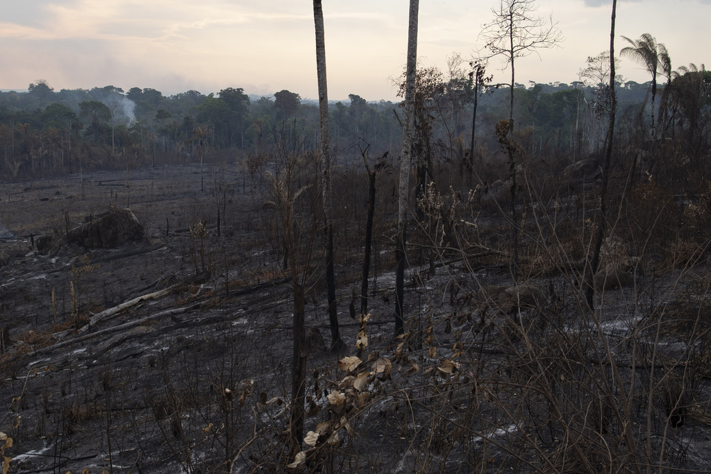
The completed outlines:
[[[468,70],[465,61],[456,59],[450,61],[449,72],[418,71],[416,124],[427,131],[420,134],[427,139],[419,146],[432,162],[459,161],[464,166],[465,156],[495,159],[496,125],[508,117],[508,87],[485,80],[475,85],[476,65]],[[587,77],[570,85],[517,84],[514,119],[519,143],[530,152],[572,161],[595,153],[604,142],[609,112],[604,61],[604,55],[589,58],[588,69],[582,71]],[[651,84],[618,85],[619,134],[632,136],[648,129]],[[711,72],[692,65],[658,85],[657,134],[683,136],[693,153],[702,153],[709,141],[710,84]],[[331,102],[330,115],[336,163],[359,158],[359,143],[370,145],[378,156],[385,151],[397,156],[402,134],[399,103],[367,102],[351,94],[346,102]],[[17,180],[201,158],[241,163],[277,143],[314,151],[318,134],[318,104],[302,101],[289,90],[251,100],[244,90],[232,87],[217,94],[189,90],[166,97],[159,90],[133,87],[124,92],[112,85],[55,92],[48,82],[37,80],[26,92],[0,92],[0,177]],[[472,148],[474,154],[469,153]],[[198,157],[198,151],[203,156]]]

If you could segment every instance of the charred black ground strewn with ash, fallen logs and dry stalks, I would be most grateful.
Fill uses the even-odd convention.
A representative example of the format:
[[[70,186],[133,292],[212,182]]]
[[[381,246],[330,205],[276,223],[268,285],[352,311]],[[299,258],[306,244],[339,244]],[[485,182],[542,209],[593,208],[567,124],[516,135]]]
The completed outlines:
[[[219,173],[206,169],[205,191],[198,166],[3,185],[0,224],[16,237],[2,245],[25,247],[0,269],[9,472],[289,470],[291,285],[273,212],[240,172],[225,171],[217,235]],[[31,247],[109,205],[134,210],[141,242]],[[549,265],[529,274],[535,308],[483,316],[476,292],[510,281],[506,263],[442,253],[429,266],[424,254],[407,271],[410,332],[392,340],[385,248],[365,350],[348,308],[360,250],[341,249],[341,354],[326,350],[323,285],[306,292],[305,428],[322,435],[297,469],[711,470],[703,259],[638,263],[634,284],[599,295],[594,312],[575,290],[579,271]],[[339,367],[355,355],[360,365]]]

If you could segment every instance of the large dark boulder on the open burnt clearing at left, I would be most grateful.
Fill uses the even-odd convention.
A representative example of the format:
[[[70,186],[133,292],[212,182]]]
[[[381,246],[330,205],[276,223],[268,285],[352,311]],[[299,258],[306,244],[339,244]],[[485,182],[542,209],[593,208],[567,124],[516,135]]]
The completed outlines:
[[[143,239],[143,225],[130,209],[111,208],[96,220],[70,230],[60,244],[77,243],[104,249]]]

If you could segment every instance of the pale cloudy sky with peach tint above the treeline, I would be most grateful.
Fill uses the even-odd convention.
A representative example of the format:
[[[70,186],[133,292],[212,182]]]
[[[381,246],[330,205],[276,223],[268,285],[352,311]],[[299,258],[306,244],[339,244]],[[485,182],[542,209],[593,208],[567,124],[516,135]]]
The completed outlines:
[[[481,48],[483,23],[499,0],[422,0],[418,57],[447,67]],[[324,0],[329,99],[394,99],[407,50],[407,0]],[[609,45],[611,1],[538,0],[538,15],[565,36],[560,48],[518,60],[517,81],[572,82],[589,55]],[[711,0],[619,0],[619,35],[651,33],[674,68],[706,63]],[[307,0],[2,0],[0,89],[45,79],[55,90],[115,85],[164,95],[242,87],[314,98],[313,3]],[[499,65],[497,80],[505,80]],[[619,71],[646,82],[629,60]]]

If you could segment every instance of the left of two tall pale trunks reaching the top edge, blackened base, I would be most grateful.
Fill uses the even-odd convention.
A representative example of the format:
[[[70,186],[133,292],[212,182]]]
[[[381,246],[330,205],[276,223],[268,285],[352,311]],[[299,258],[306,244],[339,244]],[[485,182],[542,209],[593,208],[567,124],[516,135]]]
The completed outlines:
[[[341,350],[345,344],[338,334],[336,311],[336,276],[333,271],[333,222],[331,220],[331,149],[328,132],[328,82],[326,81],[326,40],[324,11],[321,0],[314,0],[316,26],[316,70],[319,76],[319,122],[321,124],[321,192],[326,221],[326,289],[328,290],[328,322],[331,325],[331,349]]]

